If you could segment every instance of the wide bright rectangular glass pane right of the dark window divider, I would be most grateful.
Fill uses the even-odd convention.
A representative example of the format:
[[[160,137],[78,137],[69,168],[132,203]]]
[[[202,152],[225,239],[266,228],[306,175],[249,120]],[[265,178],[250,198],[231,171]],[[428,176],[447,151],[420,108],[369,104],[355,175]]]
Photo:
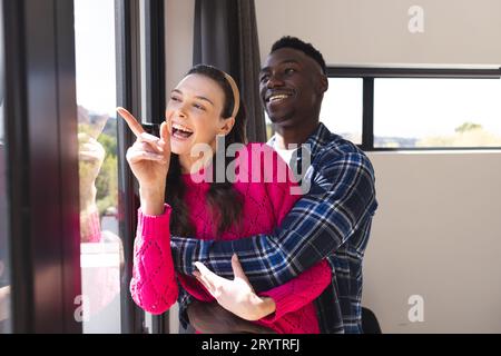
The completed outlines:
[[[501,147],[501,80],[375,79],[375,147]]]

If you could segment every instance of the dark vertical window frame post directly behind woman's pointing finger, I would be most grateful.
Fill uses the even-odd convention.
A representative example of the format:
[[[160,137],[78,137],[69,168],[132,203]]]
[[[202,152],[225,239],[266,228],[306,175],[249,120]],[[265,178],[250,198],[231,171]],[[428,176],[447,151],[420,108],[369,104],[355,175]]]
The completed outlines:
[[[117,106],[127,108],[136,115],[140,112],[141,107],[138,6],[138,0],[115,0]],[[135,137],[124,120],[118,119],[117,130],[119,215],[122,217],[122,224],[119,225],[119,235],[124,243],[125,258],[125,275],[120,276],[121,333],[141,334],[145,330],[144,316],[129,293],[134,258],[134,231],[137,224],[135,207],[137,204],[134,197],[136,191],[134,176],[125,157]]]

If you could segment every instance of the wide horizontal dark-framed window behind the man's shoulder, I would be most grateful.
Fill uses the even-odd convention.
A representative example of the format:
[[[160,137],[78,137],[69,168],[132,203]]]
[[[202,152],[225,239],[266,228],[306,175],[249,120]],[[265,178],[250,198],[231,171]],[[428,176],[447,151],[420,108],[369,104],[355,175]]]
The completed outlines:
[[[321,120],[364,150],[501,148],[501,70],[327,68]]]

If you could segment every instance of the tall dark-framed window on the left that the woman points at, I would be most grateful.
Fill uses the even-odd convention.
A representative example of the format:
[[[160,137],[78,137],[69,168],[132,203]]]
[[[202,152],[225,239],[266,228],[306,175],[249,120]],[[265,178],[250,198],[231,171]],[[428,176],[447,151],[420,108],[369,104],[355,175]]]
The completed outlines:
[[[11,268],[1,283],[10,278],[16,333],[144,332],[128,291],[137,207],[124,160],[134,139],[115,117],[117,106],[141,108],[138,4],[2,3],[0,247],[8,228]]]

